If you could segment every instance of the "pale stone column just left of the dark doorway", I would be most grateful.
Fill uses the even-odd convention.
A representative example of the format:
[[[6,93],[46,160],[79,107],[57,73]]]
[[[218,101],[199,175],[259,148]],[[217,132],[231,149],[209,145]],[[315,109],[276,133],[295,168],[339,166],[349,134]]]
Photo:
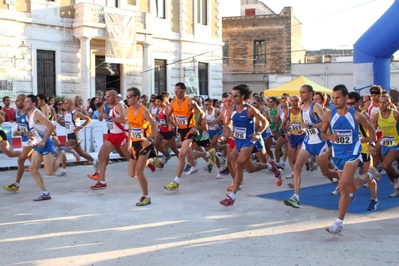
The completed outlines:
[[[80,40],[80,95],[86,104],[91,97],[90,86],[90,40],[89,37],[79,37]]]

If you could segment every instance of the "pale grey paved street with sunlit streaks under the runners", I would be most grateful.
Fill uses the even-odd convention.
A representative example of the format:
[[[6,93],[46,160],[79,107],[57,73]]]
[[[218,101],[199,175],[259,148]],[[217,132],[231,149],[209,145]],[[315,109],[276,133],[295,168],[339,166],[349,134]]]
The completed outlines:
[[[173,158],[162,170],[146,169],[152,204],[145,207],[135,206],[141,191],[126,162],[108,166],[102,191],[89,189],[92,166],[44,177],[53,197],[44,202],[32,201],[40,191],[25,173],[18,193],[0,193],[1,265],[399,264],[398,209],[349,213],[342,235],[332,236],[324,227],[336,211],[257,197],[286,190],[285,179],[276,187],[269,172],[245,174],[235,205],[226,208],[219,201],[230,177],[217,180],[202,165],[183,175],[178,193],[165,190],[176,165]],[[326,182],[319,171],[303,175],[303,186]],[[15,171],[0,176],[2,186],[9,185]]]

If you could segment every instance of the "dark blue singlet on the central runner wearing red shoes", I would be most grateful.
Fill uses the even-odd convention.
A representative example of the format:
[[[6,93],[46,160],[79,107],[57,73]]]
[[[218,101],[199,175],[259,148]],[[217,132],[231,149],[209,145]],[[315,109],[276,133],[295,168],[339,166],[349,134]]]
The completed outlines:
[[[255,132],[254,119],[248,117],[247,109],[248,104],[245,104],[242,112],[237,113],[236,106],[234,106],[231,120],[233,121],[233,136],[235,140],[251,140],[251,135]]]

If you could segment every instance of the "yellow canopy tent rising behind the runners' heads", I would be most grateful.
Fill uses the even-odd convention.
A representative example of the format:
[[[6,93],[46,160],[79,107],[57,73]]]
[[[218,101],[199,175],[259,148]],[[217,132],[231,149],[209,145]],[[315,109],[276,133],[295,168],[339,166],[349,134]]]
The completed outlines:
[[[322,91],[325,92],[327,94],[332,94],[332,90],[328,89],[324,86],[321,86],[313,81],[311,81],[308,78],[305,78],[304,76],[300,76],[297,77],[296,79],[291,80],[290,82],[278,86],[276,88],[272,88],[272,89],[268,89],[268,90],[264,90],[264,97],[266,96],[281,96],[283,95],[283,93],[288,93],[290,96],[293,95],[298,95],[299,96],[299,89],[303,86],[303,85],[311,85],[313,87],[314,91]]]

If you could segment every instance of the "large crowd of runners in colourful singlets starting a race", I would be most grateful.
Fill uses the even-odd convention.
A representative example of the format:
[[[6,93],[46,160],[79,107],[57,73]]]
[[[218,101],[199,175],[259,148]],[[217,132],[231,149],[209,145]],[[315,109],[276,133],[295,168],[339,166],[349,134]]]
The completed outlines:
[[[220,201],[226,207],[237,200],[244,169],[248,174],[267,170],[265,173],[271,174],[266,178],[274,178],[281,186],[288,159],[292,171],[285,178],[291,179],[287,185],[294,192],[284,204],[293,208],[300,207],[302,168],[320,169],[336,185],[331,194],[340,195],[338,217],[326,228],[332,234],[341,232],[346,210],[359,187],[370,189],[367,210],[377,209],[376,180],[381,178],[382,170],[392,182],[390,197],[399,195],[398,171],[393,166],[399,157],[399,112],[378,85],[365,96],[349,92],[344,85],[335,86],[332,95],[303,85],[297,95],[283,94],[268,97],[267,101],[245,84],[223,93],[221,101],[189,98],[184,83],[175,85],[174,94],[173,99],[167,92],[148,99],[133,87],[127,89],[123,100],[109,89],[105,97],[97,92],[90,101],[90,110],[82,108],[79,97],[66,98],[51,107],[45,95],[18,95],[18,129],[13,135],[21,136],[23,148],[14,151],[0,130],[0,149],[9,157],[18,157],[15,182],[4,189],[18,191],[23,172],[28,170],[41,190],[34,201],[51,199],[39,168],[43,163],[46,175],[65,175],[68,152],[77,161],[84,157],[93,164],[94,171],[88,177],[95,184],[90,189],[106,189],[109,154],[116,150],[128,160],[127,174],[137,178],[141,187],[137,206],[151,204],[145,169],[167,167],[172,155],[178,160],[176,175],[165,189],[179,191],[183,173],[197,173],[202,163],[199,159],[203,158],[206,171],[217,169],[215,178],[232,178],[226,197]],[[108,127],[98,158],[80,146],[79,131],[92,118],[104,121]],[[0,123],[4,121],[5,114],[0,111]],[[52,121],[65,127],[65,144],[58,140]],[[30,167],[25,169],[28,158]]]

